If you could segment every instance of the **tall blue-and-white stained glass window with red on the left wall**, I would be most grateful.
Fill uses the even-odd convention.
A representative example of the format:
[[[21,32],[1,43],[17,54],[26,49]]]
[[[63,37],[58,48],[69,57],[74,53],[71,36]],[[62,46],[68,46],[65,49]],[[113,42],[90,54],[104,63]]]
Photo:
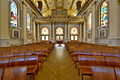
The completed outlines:
[[[11,18],[10,18],[10,24],[13,27],[17,27],[18,24],[18,7],[16,2],[10,1],[10,13],[11,13]]]

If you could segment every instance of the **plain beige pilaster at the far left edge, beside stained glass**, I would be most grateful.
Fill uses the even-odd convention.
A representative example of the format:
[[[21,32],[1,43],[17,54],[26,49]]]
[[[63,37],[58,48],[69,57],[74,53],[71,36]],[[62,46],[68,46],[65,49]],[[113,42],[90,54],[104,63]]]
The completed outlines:
[[[0,0],[0,46],[10,46],[9,1]]]

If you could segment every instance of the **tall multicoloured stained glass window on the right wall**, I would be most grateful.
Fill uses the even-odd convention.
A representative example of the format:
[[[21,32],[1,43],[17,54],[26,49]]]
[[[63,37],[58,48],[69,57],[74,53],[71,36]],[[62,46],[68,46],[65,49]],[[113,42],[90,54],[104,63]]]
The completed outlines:
[[[108,25],[108,0],[105,0],[101,5],[101,27]]]

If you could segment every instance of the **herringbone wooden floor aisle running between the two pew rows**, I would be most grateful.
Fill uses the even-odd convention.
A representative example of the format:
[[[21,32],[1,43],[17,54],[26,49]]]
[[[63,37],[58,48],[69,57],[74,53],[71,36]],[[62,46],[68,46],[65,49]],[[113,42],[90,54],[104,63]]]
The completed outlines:
[[[55,47],[35,80],[80,80],[75,65],[64,45]]]

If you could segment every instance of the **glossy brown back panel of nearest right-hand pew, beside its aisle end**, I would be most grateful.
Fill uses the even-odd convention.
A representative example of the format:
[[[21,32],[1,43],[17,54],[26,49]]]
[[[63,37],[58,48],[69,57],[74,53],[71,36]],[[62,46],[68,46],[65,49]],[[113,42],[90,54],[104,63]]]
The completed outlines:
[[[111,67],[92,67],[93,80],[116,80],[114,69]]]

